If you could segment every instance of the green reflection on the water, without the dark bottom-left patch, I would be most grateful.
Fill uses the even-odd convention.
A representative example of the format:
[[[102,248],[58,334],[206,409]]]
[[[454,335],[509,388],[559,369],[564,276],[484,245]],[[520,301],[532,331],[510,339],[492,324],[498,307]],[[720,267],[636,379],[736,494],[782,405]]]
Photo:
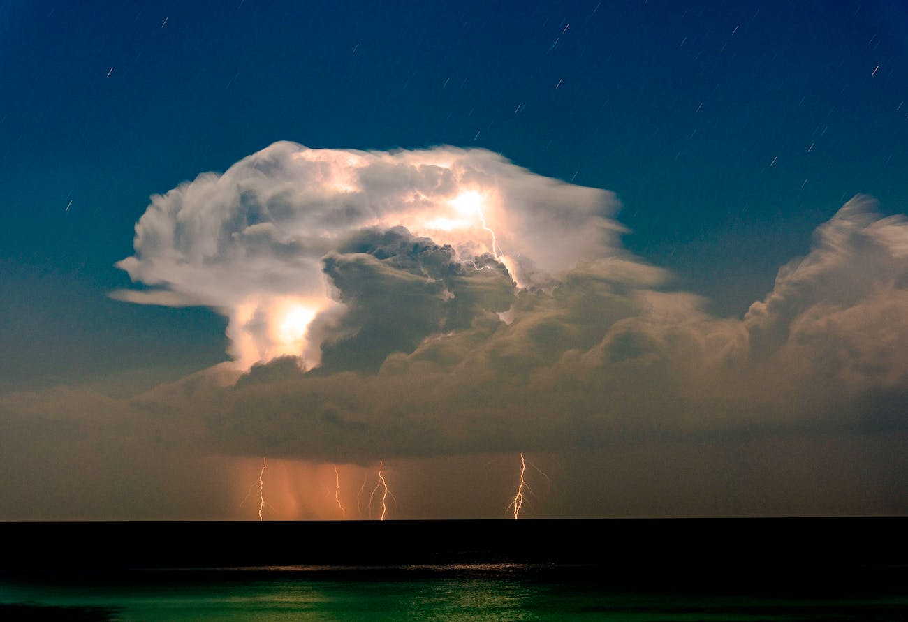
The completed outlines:
[[[908,598],[742,597],[617,589],[595,582],[539,581],[520,573],[395,575],[356,579],[305,572],[185,571],[149,577],[23,581],[0,578],[0,603],[117,607],[121,622],[181,620],[890,620]],[[0,609],[2,611],[2,609]],[[89,619],[89,618],[84,618]],[[104,619],[104,618],[92,618]]]

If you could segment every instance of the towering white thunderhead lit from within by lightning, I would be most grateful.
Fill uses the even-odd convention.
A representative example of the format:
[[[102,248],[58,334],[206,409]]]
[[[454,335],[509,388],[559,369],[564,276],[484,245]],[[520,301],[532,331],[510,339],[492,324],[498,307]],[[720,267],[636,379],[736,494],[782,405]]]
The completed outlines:
[[[117,264],[145,289],[114,297],[222,312],[242,368],[283,355],[313,368],[323,346],[340,357],[354,346],[339,341],[359,334],[361,344],[366,333],[383,340],[369,355],[380,362],[382,352],[411,351],[469,321],[465,307],[483,304],[479,290],[489,285],[467,272],[507,271],[520,287],[547,286],[577,262],[614,254],[615,206],[610,193],[479,149],[274,143],[223,174],[153,196],[135,227],[135,254]],[[397,246],[382,248],[389,243]],[[507,311],[499,298],[487,309]],[[410,303],[419,309],[406,310]],[[381,322],[393,332],[405,323],[393,321],[401,311],[412,322],[400,341],[374,330]]]

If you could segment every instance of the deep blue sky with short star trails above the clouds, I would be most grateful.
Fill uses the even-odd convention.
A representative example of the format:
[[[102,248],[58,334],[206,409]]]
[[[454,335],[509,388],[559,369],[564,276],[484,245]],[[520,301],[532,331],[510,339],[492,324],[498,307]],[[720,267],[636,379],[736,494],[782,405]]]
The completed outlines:
[[[0,389],[223,360],[211,311],[106,293],[150,194],[276,140],[480,146],[614,191],[627,247],[723,315],[854,193],[908,212],[889,0],[5,0],[0,84]]]

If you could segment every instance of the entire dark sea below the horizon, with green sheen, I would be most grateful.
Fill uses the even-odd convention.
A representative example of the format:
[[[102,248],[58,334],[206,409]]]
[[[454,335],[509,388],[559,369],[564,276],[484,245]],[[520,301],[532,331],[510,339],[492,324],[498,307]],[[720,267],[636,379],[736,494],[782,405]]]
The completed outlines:
[[[0,620],[908,621],[906,530],[903,518],[6,523]]]

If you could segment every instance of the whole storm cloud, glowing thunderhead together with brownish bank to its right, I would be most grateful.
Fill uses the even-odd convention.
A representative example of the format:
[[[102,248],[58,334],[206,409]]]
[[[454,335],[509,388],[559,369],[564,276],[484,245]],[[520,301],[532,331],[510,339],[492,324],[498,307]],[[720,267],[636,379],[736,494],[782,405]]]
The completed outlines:
[[[122,300],[227,315],[247,371],[133,407],[192,411],[212,450],[350,460],[903,427],[903,217],[855,197],[734,319],[665,291],[616,205],[482,150],[271,145],[153,197],[119,264],[147,288]]]

